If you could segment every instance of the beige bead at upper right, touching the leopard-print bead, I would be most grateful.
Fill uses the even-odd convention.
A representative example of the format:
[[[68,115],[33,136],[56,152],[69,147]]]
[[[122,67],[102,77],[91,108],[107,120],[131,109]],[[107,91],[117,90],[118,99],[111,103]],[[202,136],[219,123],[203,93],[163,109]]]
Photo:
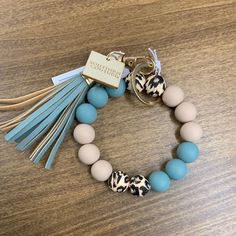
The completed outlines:
[[[176,86],[168,86],[162,95],[162,101],[168,107],[176,107],[184,100],[183,90]]]

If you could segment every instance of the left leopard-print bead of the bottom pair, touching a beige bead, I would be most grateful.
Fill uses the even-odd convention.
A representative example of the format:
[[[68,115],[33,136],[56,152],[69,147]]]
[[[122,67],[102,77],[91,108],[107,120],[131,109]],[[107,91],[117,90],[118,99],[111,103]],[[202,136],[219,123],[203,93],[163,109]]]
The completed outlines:
[[[108,179],[108,186],[114,192],[125,192],[129,187],[129,176],[120,170],[113,171]]]

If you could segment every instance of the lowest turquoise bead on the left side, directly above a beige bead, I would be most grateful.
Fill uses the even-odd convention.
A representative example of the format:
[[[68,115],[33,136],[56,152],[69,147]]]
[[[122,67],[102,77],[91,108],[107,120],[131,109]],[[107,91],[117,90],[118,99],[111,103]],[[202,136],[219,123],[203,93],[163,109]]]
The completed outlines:
[[[77,107],[75,115],[80,123],[92,124],[97,118],[97,110],[93,105],[83,103]]]

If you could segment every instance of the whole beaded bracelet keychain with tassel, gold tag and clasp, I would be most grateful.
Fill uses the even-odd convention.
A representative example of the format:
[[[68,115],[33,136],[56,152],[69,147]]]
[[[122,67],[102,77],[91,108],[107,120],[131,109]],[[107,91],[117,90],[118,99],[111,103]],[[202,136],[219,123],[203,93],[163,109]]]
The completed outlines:
[[[7,131],[5,139],[17,143],[16,148],[20,151],[44,136],[30,156],[33,163],[38,163],[49,152],[45,168],[51,168],[75,117],[80,124],[74,129],[74,138],[82,145],[78,158],[91,165],[92,176],[98,181],[107,181],[114,192],[130,189],[136,196],[144,196],[150,189],[164,192],[170,186],[170,179],[182,179],[187,173],[186,163],[197,159],[199,149],[194,142],[202,136],[201,127],[194,122],[197,110],[192,103],[184,101],[181,88],[175,85],[166,87],[156,50],[149,48],[148,55],[141,57],[127,57],[116,51],[105,56],[92,51],[85,67],[54,77],[54,80],[58,80],[54,86],[26,96],[0,99],[4,104],[0,111],[34,104],[17,117],[0,123],[0,129]],[[122,96],[126,89],[150,106],[161,97],[165,105],[175,108],[175,118],[183,123],[180,136],[184,142],[177,148],[177,159],[168,161],[165,171],[155,170],[147,178],[141,174],[130,178],[123,171],[113,171],[108,161],[99,160],[100,151],[92,144],[95,131],[91,124],[97,118],[96,109],[104,107],[109,97]],[[143,93],[152,99],[147,99]]]

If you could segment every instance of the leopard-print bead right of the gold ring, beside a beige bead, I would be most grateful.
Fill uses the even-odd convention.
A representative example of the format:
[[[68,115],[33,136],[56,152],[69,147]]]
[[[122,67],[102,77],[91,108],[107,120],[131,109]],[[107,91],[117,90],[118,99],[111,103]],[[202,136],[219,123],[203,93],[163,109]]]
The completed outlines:
[[[153,97],[161,96],[166,89],[166,82],[160,75],[150,75],[145,84],[147,94]]]

